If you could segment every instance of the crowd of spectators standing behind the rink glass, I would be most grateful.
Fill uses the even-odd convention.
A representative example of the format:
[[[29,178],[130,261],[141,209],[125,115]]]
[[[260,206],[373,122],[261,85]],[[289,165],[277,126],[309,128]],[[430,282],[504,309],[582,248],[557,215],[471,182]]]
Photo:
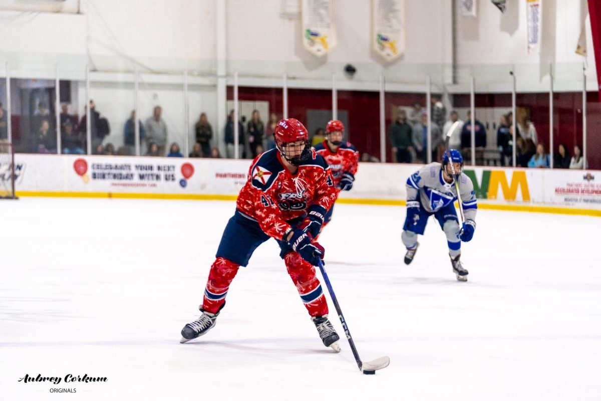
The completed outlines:
[[[115,150],[115,146],[108,142],[103,144],[104,139],[111,132],[108,120],[102,117],[96,109],[94,100],[84,107],[84,115],[78,121],[78,117],[69,111],[69,103],[61,104],[59,114],[59,129],[61,139],[61,152],[64,154],[84,155],[87,149],[87,126],[88,115],[90,118],[91,148],[94,155],[135,155],[135,133],[136,124],[139,130],[139,145],[145,156],[168,156],[183,157],[180,145],[171,142],[169,149],[168,129],[162,118],[162,107],[157,105],[153,109],[151,117],[144,123],[136,117],[132,110],[130,118],[123,127],[123,146]],[[467,120],[462,121],[459,113],[452,110],[445,121],[447,111],[438,95],[432,96],[432,160],[442,159],[445,152],[445,138],[448,131],[458,122],[453,135],[450,138],[450,147],[458,148],[463,158],[471,159],[471,137],[472,116],[467,112]],[[88,113],[89,111],[89,113]],[[56,124],[53,114],[46,102],[40,100],[37,103],[34,115],[29,117],[28,131],[22,138],[20,144],[21,152],[29,153],[56,153]],[[251,118],[245,121],[237,121],[238,125],[238,149],[239,158],[252,159],[264,150],[275,148],[273,132],[278,122],[278,115],[271,113],[267,124],[261,120],[258,110],[252,111]],[[395,120],[389,127],[389,141],[391,144],[392,160],[397,163],[425,163],[427,161],[427,127],[428,115],[426,109],[419,103],[415,103],[410,109],[409,115],[405,109],[397,109]],[[224,142],[227,158],[234,158],[234,111],[228,115],[224,128]],[[486,127],[479,120],[474,120],[475,158],[477,165],[484,164],[484,150],[487,145]],[[190,158],[221,158],[217,147],[212,147],[214,139],[213,127],[208,121],[207,114],[202,112],[194,124],[195,142],[192,145]],[[0,139],[7,138],[7,115],[2,103],[0,103]],[[325,140],[325,130],[317,129],[311,138],[312,144]],[[513,146],[516,146],[517,167],[549,168],[551,157],[546,152],[545,145],[538,143],[537,130],[529,118],[529,112],[525,108],[517,109],[517,118],[514,124],[513,114],[508,112],[501,115],[496,133],[496,144],[499,152],[501,166],[511,165],[513,157]],[[362,153],[362,161],[379,161],[375,156],[367,152]],[[554,168],[582,169],[584,160],[581,147],[576,144],[573,154],[565,144],[560,143],[554,152]]]

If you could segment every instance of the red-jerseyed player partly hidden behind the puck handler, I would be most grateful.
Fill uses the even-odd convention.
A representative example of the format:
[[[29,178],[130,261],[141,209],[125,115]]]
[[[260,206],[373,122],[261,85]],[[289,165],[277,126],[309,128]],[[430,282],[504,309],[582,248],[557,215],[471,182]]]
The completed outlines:
[[[340,191],[350,191],[353,188],[359,162],[359,152],[350,142],[343,139],[344,124],[339,120],[331,120],[326,126],[326,140],[314,147],[315,151],[326,159],[332,170],[337,198]],[[332,212],[334,206],[328,210],[322,228],[332,219]]]

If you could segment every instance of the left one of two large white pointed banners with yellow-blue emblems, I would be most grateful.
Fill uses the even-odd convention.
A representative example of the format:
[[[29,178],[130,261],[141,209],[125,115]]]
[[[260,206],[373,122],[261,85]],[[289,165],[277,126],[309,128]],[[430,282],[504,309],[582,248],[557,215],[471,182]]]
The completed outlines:
[[[302,35],[305,49],[317,56],[336,46],[332,0],[302,0]]]

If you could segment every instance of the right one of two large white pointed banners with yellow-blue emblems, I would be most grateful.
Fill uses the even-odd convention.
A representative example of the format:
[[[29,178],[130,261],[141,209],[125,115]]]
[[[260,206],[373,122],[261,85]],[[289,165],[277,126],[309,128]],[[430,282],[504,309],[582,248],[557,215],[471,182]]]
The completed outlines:
[[[405,51],[405,1],[371,1],[371,46],[386,61]]]

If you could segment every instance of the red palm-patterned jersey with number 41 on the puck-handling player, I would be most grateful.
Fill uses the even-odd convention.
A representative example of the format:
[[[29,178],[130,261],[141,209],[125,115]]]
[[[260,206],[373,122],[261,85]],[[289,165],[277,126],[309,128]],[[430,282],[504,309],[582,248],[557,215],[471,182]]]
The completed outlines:
[[[292,175],[278,150],[272,149],[252,161],[236,207],[256,219],[267,235],[282,239],[290,228],[287,221],[301,217],[313,204],[329,210],[336,197],[332,172],[322,156],[311,151],[309,160]]]

